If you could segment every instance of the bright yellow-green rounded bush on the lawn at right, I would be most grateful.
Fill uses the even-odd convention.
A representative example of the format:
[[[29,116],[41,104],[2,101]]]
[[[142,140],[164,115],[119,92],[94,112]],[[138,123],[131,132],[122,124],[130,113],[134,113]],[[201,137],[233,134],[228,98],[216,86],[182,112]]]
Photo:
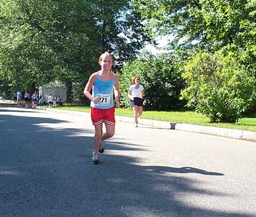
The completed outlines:
[[[237,64],[232,53],[198,54],[185,69],[182,76],[187,87],[182,99],[211,122],[237,122],[253,102],[255,79]]]

